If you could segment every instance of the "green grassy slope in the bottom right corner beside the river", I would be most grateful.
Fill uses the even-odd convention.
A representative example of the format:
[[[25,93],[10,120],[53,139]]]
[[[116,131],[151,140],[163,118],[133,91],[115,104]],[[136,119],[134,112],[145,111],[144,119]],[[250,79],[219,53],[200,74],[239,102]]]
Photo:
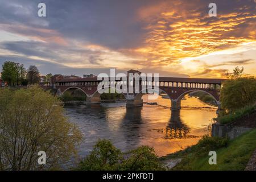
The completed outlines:
[[[162,160],[181,158],[172,170],[244,170],[255,149],[256,129],[253,129],[233,140],[203,138],[195,146],[164,156]],[[217,152],[217,165],[208,163],[211,150]]]

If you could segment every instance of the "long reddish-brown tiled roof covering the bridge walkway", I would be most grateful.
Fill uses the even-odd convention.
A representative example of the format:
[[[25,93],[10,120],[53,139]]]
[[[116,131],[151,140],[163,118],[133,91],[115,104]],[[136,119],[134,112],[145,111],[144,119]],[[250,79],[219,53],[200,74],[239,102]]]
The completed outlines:
[[[110,78],[109,78],[110,80]],[[219,78],[181,78],[181,77],[159,77],[159,81],[166,82],[191,82],[191,83],[201,83],[201,84],[221,84],[226,79]],[[82,82],[82,81],[100,81],[97,77],[89,78],[63,78],[56,82]],[[152,78],[154,81],[154,77]]]

